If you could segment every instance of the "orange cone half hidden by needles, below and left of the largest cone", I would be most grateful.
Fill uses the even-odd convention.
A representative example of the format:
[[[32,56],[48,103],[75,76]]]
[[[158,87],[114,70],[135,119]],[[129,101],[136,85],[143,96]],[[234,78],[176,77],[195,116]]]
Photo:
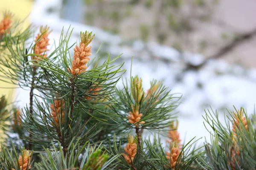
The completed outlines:
[[[57,97],[56,97],[57,98]],[[62,106],[61,106],[62,105]],[[61,124],[64,124],[64,100],[54,100],[54,105],[50,104],[50,108],[52,109],[52,118],[54,119],[55,123],[59,127],[59,115],[61,111]],[[52,125],[54,126],[54,123],[52,122]]]

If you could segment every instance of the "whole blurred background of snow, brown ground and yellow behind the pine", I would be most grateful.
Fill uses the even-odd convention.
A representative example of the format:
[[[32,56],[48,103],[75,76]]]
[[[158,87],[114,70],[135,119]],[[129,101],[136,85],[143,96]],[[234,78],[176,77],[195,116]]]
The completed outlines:
[[[0,12],[6,9],[15,19],[28,16],[25,24],[50,26],[52,45],[70,25],[70,42],[79,42],[80,31],[93,31],[93,54],[102,43],[100,57],[122,54],[117,62],[125,61],[125,77],[134,56],[132,75],[143,78],[144,89],[157,79],[182,94],[183,139],[210,139],[202,117],[210,105],[222,118],[233,105],[254,111],[255,0],[0,0]],[[29,101],[27,91],[12,92],[20,106]]]

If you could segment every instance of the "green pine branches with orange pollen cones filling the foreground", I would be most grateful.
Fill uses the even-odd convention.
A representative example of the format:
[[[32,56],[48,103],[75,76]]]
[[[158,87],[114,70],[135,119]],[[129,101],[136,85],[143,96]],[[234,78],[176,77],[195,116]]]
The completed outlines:
[[[211,143],[197,146],[195,138],[185,143],[175,112],[180,97],[162,82],[152,80],[144,91],[143,80],[131,75],[119,89],[116,83],[125,73],[123,63],[116,65],[120,56],[91,57],[92,32],[81,32],[79,45],[70,45],[72,29],[63,29],[50,51],[48,26],[33,37],[37,29],[21,31],[20,24],[9,13],[0,23],[1,81],[30,96],[23,108],[0,98],[0,128],[7,136],[1,170],[255,168],[256,121],[242,108],[231,114],[232,130],[218,114],[215,119],[207,113]]]

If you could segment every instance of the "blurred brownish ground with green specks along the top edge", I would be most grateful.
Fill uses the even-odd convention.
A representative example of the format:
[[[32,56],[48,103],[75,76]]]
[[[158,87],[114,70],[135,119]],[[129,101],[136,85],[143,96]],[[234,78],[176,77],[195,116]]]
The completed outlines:
[[[198,30],[201,23],[215,20],[212,16],[217,7],[216,0],[85,1],[87,1],[85,5],[87,10],[84,14],[87,24],[93,23],[94,26],[112,34],[121,33],[125,36],[129,34],[130,40],[134,39],[134,34],[139,34],[141,40],[148,41],[150,35],[152,41],[171,45],[170,43],[174,40],[181,42],[184,47],[187,46],[185,41],[191,41],[191,38],[180,40],[180,35],[190,34],[189,31]],[[145,18],[147,23],[138,23]],[[120,26],[127,20],[133,23],[129,26],[133,33],[130,29]]]

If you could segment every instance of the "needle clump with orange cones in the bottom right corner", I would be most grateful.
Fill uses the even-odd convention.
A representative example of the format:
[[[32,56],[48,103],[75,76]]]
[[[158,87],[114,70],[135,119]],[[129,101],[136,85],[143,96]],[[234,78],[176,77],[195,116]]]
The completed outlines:
[[[207,159],[203,159],[202,167],[208,170],[255,169],[256,115],[253,113],[250,118],[247,115],[244,108],[240,111],[235,108],[234,112],[228,111],[225,122],[221,123],[217,111],[206,111],[204,120],[210,127],[211,142],[205,145]]]

